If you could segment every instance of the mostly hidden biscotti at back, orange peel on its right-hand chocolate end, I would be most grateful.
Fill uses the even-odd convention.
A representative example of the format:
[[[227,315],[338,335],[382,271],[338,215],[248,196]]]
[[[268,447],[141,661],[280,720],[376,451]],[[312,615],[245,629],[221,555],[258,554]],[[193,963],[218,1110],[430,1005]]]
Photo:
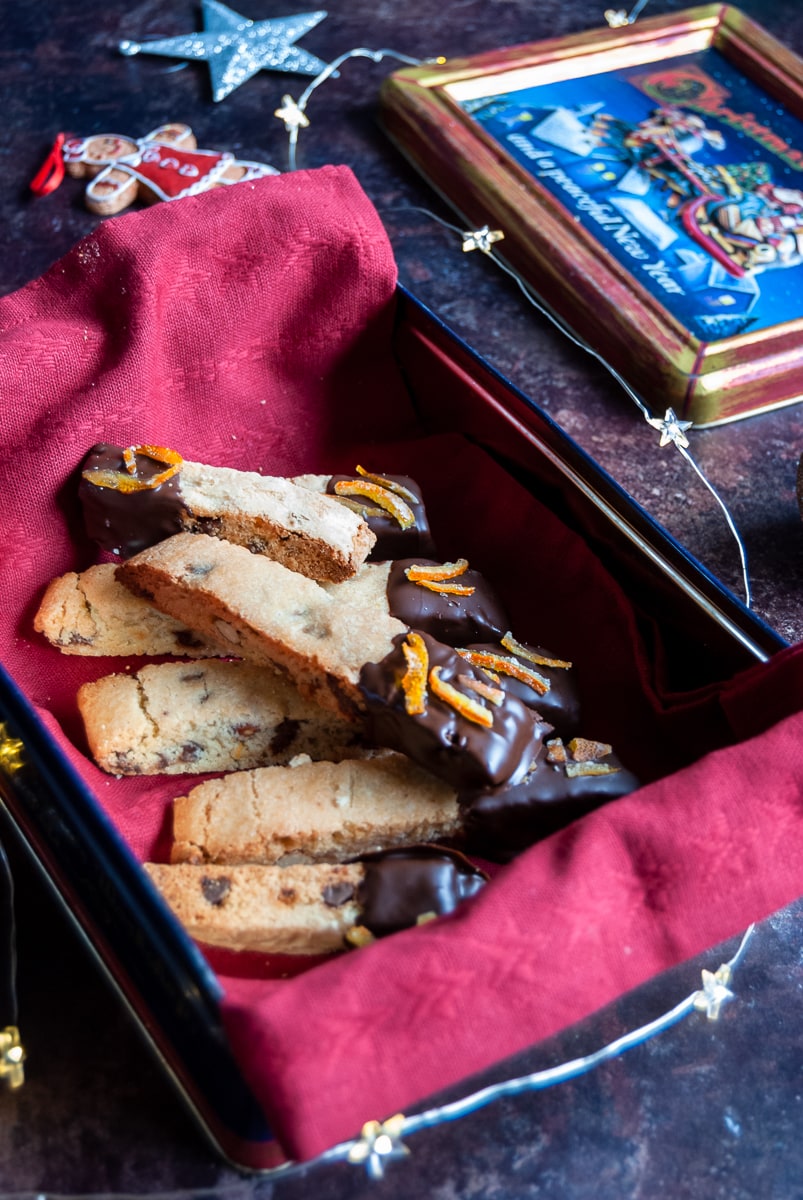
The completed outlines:
[[[358,467],[353,475],[295,475],[292,482],[336,496],[376,534],[370,562],[437,553],[421,488],[408,475],[373,475]]]

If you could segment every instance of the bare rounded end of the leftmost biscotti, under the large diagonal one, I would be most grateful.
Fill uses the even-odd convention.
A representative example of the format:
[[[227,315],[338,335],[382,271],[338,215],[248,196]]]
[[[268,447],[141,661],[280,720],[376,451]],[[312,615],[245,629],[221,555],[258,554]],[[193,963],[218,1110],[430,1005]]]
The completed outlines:
[[[210,658],[218,653],[182,622],[132,595],[115,570],[115,563],[98,563],[53,580],[34,617],[36,632],[64,654]]]

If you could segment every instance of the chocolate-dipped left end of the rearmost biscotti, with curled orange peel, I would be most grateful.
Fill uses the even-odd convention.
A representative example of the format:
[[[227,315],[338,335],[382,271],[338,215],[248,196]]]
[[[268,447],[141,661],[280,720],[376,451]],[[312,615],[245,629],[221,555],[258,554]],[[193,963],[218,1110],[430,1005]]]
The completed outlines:
[[[180,532],[184,512],[180,474],[174,474],[163,484],[145,487],[139,492],[98,487],[86,478],[88,474],[107,470],[126,474],[122,446],[98,442],[84,460],[78,485],[84,526],[92,541],[103,550],[128,558]],[[152,479],[163,470],[163,462],[137,455],[137,474],[140,479]]]

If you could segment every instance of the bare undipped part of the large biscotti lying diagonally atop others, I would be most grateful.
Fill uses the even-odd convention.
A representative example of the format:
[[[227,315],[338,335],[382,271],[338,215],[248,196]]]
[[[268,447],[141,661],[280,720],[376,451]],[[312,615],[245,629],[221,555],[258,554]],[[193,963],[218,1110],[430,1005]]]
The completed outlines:
[[[362,710],[360,668],[407,626],[390,616],[386,565],[320,586],[281,563],[203,534],[176,534],[118,568],[162,612],[251,662],[274,665],[322,707]]]

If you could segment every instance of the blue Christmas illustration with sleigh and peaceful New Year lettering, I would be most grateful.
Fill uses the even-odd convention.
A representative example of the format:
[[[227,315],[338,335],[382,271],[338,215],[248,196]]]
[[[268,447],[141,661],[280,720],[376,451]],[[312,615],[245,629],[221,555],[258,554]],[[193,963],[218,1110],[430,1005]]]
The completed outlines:
[[[803,121],[719,52],[462,107],[700,340],[803,316]]]

